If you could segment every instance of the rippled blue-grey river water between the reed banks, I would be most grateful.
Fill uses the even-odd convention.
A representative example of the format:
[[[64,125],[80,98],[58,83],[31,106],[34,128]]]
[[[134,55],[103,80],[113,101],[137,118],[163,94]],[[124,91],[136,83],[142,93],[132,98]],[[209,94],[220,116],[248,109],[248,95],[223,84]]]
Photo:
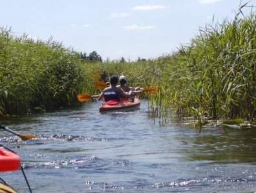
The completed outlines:
[[[100,114],[101,102],[26,115],[1,124],[33,192],[255,192],[256,129],[158,124],[147,101],[126,113]],[[21,170],[0,177],[28,192]]]

